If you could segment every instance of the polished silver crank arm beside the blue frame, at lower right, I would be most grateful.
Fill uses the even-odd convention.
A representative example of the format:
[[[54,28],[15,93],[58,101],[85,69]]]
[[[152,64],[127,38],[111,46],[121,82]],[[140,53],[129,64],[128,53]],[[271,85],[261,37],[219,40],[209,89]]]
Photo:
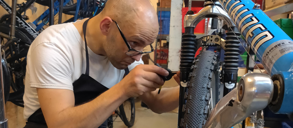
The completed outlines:
[[[272,100],[273,82],[269,75],[247,73],[239,84],[212,110],[204,128],[230,128]]]

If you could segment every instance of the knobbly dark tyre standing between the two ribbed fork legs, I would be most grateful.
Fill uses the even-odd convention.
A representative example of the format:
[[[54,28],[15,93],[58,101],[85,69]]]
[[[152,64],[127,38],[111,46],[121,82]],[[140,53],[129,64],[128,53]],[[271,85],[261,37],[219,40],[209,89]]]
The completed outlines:
[[[201,128],[205,124],[211,110],[210,88],[220,87],[215,80],[216,77],[219,78],[218,61],[219,58],[213,51],[204,51],[195,58],[188,92],[185,94],[186,105],[183,105],[183,127]],[[219,93],[216,91],[215,95]]]

